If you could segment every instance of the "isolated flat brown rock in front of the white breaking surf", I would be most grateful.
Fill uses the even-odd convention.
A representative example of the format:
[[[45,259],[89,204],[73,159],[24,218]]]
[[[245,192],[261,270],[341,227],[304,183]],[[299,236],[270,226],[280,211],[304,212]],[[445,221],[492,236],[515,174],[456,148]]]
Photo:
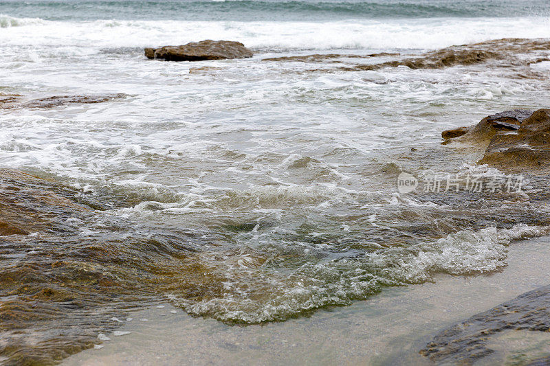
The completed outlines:
[[[145,56],[151,59],[162,58],[166,61],[225,60],[252,57],[252,51],[239,42],[208,39],[181,46],[146,48]]]

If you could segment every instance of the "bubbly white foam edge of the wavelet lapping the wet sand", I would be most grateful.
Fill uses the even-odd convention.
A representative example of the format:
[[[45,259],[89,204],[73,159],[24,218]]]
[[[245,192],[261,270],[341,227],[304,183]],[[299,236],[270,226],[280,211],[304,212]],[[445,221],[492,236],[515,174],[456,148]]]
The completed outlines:
[[[490,273],[506,265],[507,246],[512,240],[549,232],[548,226],[529,225],[459,231],[436,242],[422,242],[406,249],[381,249],[366,253],[364,258],[305,264],[292,275],[279,278],[231,266],[226,276],[230,280],[224,286],[232,291],[223,297],[198,303],[176,295],[170,299],[191,314],[224,321],[255,323],[286,319],[320,306],[349,305],[353,300],[377,293],[381,285],[423,283],[432,279],[434,273]],[[239,271],[238,277],[232,277],[232,271]],[[270,297],[254,301],[250,288],[262,286]]]

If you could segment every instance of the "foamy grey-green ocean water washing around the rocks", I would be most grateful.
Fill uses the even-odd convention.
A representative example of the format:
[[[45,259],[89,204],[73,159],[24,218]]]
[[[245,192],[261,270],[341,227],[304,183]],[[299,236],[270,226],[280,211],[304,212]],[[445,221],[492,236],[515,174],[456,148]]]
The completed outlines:
[[[254,57],[143,54],[208,38],[241,41]],[[397,176],[503,176],[476,165],[475,148],[441,146],[441,131],[548,107],[548,62],[338,68],[403,57],[351,56],[498,38],[550,38],[549,3],[0,1],[0,96],[118,94],[0,109],[0,167],[47,179],[93,208],[58,215],[63,229],[6,238],[0,271],[33,286],[1,277],[0,299],[44,288],[80,299],[78,309],[57,305],[71,314],[63,326],[41,318],[48,339],[90,309],[122,311],[144,299],[226,323],[285,321],[435,273],[505,268],[512,240],[549,232],[545,179],[528,176],[513,194],[401,194]],[[263,60],[308,54],[347,56]],[[518,57],[534,56],[550,55]],[[64,265],[39,277],[54,260]],[[78,287],[92,274],[118,286],[92,299]]]

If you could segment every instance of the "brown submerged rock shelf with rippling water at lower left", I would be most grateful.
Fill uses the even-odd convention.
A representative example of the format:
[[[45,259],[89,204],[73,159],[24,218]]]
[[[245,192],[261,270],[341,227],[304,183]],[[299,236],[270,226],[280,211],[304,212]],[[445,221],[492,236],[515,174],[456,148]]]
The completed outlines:
[[[54,365],[94,347],[120,325],[113,317],[169,286],[206,295],[190,233],[139,232],[91,206],[78,190],[0,169],[2,365]]]

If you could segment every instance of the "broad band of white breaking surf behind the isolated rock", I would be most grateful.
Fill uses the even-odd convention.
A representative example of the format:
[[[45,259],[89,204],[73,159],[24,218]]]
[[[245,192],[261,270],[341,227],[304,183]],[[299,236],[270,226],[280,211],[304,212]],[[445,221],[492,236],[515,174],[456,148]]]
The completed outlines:
[[[42,21],[0,18],[3,45],[146,47],[234,39],[260,49],[435,49],[495,38],[550,37],[547,18],[353,21]],[[19,25],[19,26],[16,26]]]

